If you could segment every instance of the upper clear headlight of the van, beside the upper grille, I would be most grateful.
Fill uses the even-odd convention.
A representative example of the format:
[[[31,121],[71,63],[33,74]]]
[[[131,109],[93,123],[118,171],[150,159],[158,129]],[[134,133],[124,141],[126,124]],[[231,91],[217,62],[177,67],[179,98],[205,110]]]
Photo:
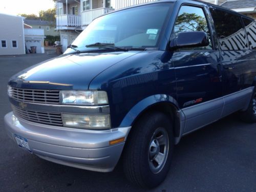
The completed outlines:
[[[108,95],[104,91],[60,91],[63,104],[97,105],[108,104]]]

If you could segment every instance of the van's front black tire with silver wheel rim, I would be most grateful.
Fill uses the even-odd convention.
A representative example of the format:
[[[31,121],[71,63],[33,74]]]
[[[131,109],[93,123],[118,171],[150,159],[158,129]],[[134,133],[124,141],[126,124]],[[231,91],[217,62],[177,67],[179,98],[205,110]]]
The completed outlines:
[[[159,134],[154,136],[158,132]],[[163,141],[161,134],[163,134],[165,141]],[[157,138],[161,138],[159,143],[156,141]],[[167,138],[168,144],[166,144]],[[158,147],[154,148],[153,142],[158,143]],[[165,153],[166,149],[167,153]],[[170,117],[160,112],[151,112],[142,116],[132,127],[125,144],[123,168],[126,178],[143,188],[158,186],[164,181],[168,173],[173,150],[174,136]],[[155,156],[153,153],[156,153]],[[165,160],[156,158],[160,153],[161,157],[163,157],[162,154],[166,154]],[[161,167],[157,161],[162,162]]]

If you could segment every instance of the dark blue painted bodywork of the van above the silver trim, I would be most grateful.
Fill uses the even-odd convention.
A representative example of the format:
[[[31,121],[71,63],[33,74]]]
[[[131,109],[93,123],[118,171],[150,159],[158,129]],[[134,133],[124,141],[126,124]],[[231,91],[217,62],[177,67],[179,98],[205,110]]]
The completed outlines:
[[[212,50],[168,50],[182,4],[204,8]],[[159,102],[183,109],[196,104],[187,104],[190,101],[202,98],[202,103],[252,86],[256,52],[222,51],[209,14],[206,4],[178,1],[157,50],[62,55],[14,75],[9,84],[25,89],[104,90],[112,127],[131,125],[140,113]]]

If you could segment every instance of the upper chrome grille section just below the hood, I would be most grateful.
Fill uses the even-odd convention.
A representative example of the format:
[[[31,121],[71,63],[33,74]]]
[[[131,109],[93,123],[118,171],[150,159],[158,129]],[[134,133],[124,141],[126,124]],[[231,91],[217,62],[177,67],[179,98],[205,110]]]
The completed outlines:
[[[18,101],[37,103],[59,103],[58,90],[36,90],[10,88],[10,95]]]

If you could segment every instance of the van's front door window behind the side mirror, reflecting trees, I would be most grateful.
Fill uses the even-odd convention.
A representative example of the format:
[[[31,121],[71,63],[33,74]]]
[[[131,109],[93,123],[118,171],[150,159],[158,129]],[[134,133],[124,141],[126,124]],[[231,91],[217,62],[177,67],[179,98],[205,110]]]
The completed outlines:
[[[174,26],[174,35],[177,37],[181,32],[204,31],[208,34],[210,44],[201,48],[185,48],[182,50],[212,50],[211,35],[208,23],[202,8],[182,6]]]

